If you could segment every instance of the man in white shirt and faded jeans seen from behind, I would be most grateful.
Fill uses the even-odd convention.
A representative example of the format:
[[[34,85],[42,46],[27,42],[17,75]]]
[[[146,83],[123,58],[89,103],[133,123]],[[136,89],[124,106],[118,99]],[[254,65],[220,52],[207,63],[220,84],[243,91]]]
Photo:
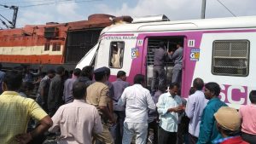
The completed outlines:
[[[148,89],[143,88],[145,76],[137,74],[134,85],[127,87],[119,105],[125,105],[125,123],[123,144],[131,144],[133,135],[136,135],[137,144],[145,144],[148,135],[148,109],[154,110],[154,101]]]

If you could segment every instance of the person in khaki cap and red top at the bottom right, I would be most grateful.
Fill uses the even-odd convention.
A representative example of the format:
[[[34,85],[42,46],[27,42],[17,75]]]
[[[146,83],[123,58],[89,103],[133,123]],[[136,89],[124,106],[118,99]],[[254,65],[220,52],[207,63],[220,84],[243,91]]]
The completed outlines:
[[[231,107],[220,107],[214,118],[217,122],[219,133],[223,136],[222,139],[213,141],[218,144],[248,144],[241,139],[240,128],[241,118],[236,109]]]

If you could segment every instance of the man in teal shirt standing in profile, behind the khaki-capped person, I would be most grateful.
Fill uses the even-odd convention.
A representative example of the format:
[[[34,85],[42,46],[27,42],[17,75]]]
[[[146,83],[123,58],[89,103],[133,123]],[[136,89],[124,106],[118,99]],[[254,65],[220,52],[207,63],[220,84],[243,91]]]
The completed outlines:
[[[219,100],[219,93],[220,87],[217,83],[212,82],[205,85],[205,96],[209,101],[202,113],[197,144],[212,144],[212,141],[221,136],[217,130],[214,113],[217,112],[220,107],[226,107],[227,105]]]

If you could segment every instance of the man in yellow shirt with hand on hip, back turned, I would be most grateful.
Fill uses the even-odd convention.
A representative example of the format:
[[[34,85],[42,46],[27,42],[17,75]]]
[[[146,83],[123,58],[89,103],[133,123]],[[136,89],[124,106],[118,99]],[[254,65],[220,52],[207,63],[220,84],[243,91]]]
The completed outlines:
[[[43,134],[52,125],[52,120],[38,106],[36,101],[21,97],[16,91],[20,89],[22,76],[19,72],[6,72],[3,78],[3,94],[0,95],[0,143],[27,143]],[[26,132],[30,118],[38,120],[35,130]]]

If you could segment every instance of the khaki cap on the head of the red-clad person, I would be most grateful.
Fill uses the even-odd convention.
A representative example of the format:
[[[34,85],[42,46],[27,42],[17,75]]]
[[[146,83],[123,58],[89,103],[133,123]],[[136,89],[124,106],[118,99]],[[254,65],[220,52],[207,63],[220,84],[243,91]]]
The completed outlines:
[[[227,130],[239,130],[241,126],[241,117],[235,108],[220,107],[214,117],[218,124]]]

